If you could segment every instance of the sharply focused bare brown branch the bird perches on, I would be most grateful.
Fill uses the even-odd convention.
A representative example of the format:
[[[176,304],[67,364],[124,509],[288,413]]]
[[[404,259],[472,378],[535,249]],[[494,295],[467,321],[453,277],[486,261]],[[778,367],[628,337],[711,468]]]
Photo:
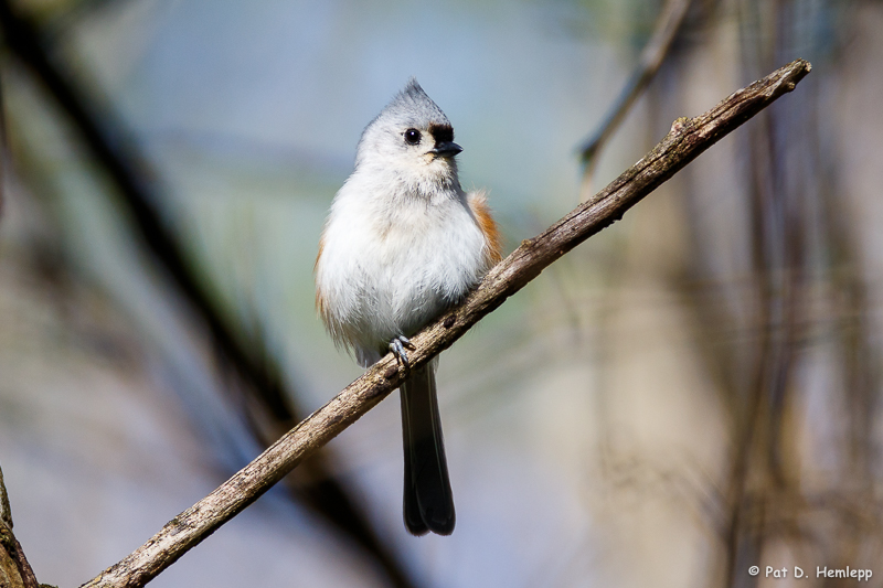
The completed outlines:
[[[652,151],[591,203],[581,204],[538,237],[522,242],[460,304],[413,338],[416,350],[409,355],[412,368],[421,367],[450,346],[565,253],[621,218],[626,211],[700,153],[791,92],[810,68],[808,62],[797,60],[734,93],[704,115],[675,120]],[[405,375],[393,355],[387,354],[233,478],[167,523],[146,544],[84,588],[143,586],[376,406],[398,387]]]

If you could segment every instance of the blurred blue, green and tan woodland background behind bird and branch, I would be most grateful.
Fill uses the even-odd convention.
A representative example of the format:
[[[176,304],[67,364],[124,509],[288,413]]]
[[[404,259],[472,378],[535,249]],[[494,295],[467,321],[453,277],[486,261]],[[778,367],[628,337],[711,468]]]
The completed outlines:
[[[2,0],[0,20],[0,463],[41,581],[116,563],[361,373],[312,264],[408,76],[509,253],[677,117],[804,57],[792,94],[443,354],[451,537],[404,530],[393,395],[152,586],[845,586],[816,577],[845,566],[883,586],[883,2]]]

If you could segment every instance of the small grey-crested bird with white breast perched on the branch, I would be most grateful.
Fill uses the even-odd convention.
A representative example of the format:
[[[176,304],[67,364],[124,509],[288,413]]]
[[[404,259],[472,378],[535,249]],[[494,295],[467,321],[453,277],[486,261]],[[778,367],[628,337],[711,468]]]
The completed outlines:
[[[368,367],[387,352],[400,387],[404,521],[413,535],[455,526],[435,373],[411,370],[411,339],[472,290],[501,258],[483,191],[459,181],[454,127],[416,78],[364,128],[353,171],[319,239],[316,306],[338,348]]]

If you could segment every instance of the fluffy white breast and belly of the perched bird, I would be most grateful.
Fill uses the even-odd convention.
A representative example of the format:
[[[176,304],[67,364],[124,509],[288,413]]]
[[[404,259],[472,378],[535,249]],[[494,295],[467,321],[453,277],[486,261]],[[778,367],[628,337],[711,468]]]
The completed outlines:
[[[412,335],[487,270],[487,247],[459,190],[432,197],[354,174],[338,192],[322,238],[317,286],[338,342],[360,363]]]

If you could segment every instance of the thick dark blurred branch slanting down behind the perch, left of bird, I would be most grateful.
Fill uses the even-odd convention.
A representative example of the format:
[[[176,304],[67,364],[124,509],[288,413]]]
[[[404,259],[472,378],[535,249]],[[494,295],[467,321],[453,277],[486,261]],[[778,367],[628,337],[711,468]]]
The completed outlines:
[[[190,302],[191,310],[208,327],[211,341],[222,357],[219,363],[231,366],[246,383],[245,386],[230,386],[230,389],[247,396],[240,407],[246,410],[252,432],[267,447],[304,416],[294,405],[291,395],[285,393],[278,364],[263,340],[244,343],[236,335],[210,288],[195,277],[184,248],[160,216],[161,199],[145,181],[148,165],[125,125],[114,119],[110,108],[98,109],[91,104],[87,93],[50,57],[36,26],[13,11],[8,0],[0,0],[0,26],[6,45],[67,115],[117,188],[143,243]],[[100,117],[96,115],[98,111]],[[311,459],[298,473],[299,477],[287,484],[298,499],[353,537],[383,566],[394,586],[413,585],[404,566],[375,534],[368,516],[351,498],[351,491],[330,473],[323,453]]]

